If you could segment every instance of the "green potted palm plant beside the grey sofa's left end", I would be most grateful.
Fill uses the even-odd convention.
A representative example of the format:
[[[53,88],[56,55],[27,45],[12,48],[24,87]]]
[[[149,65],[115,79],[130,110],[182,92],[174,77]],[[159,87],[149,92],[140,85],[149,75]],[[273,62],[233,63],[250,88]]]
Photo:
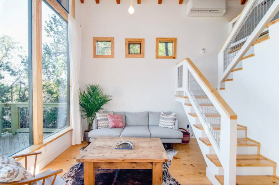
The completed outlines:
[[[103,105],[108,104],[112,100],[111,95],[103,93],[100,85],[85,85],[85,90],[79,90],[79,105],[82,119],[87,119],[87,130],[84,131],[86,141],[89,141],[88,133],[92,130],[93,120],[96,113],[104,110]]]

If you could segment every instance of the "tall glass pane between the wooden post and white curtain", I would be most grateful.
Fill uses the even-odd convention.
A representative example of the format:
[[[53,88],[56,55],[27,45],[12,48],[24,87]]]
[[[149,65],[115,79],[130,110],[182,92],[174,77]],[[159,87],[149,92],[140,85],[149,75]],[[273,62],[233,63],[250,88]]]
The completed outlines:
[[[67,22],[42,4],[44,138],[70,125]]]

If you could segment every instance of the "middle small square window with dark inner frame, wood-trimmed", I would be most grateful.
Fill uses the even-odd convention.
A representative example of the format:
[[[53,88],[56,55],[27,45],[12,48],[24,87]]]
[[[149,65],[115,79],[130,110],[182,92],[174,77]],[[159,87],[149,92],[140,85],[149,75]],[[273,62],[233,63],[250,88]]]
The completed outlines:
[[[144,58],[144,39],[125,39],[126,58]]]

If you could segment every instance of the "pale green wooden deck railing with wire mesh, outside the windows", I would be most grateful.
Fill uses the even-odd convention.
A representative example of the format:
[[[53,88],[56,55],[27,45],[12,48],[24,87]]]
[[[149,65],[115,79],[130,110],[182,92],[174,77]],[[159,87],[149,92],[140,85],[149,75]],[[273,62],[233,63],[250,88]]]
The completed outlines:
[[[0,137],[5,132],[29,132],[29,103],[0,103]],[[56,132],[66,125],[67,103],[43,103],[43,130]]]

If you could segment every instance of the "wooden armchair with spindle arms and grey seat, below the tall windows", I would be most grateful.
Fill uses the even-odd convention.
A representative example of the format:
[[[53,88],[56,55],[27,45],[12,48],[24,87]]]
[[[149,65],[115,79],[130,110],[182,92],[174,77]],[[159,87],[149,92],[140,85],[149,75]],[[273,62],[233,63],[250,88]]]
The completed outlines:
[[[22,181],[16,181],[16,182],[0,182],[0,185],[24,185],[28,184],[30,185],[32,182],[38,182],[38,185],[66,185],[67,183],[58,176],[59,173],[63,172],[63,169],[53,171],[51,168],[41,172],[36,175],[36,163],[37,163],[37,156],[41,154],[42,152],[34,152],[29,154],[22,154],[13,156],[14,159],[24,157],[25,158],[25,169],[27,170],[27,156],[34,156],[35,155],[35,163],[34,163],[34,171],[33,171],[33,178],[22,180]]]

